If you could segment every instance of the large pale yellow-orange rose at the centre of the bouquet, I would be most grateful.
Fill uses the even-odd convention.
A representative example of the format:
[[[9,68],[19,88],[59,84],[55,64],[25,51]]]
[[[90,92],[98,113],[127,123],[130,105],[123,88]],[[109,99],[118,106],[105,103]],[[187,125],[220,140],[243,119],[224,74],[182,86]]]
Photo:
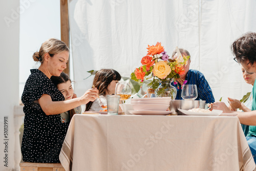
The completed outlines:
[[[172,71],[172,70],[170,69],[170,66],[167,65],[166,61],[161,60],[161,61],[155,63],[155,66],[154,66],[152,72],[153,72],[154,76],[164,79],[167,77],[167,75],[169,75],[170,71]]]

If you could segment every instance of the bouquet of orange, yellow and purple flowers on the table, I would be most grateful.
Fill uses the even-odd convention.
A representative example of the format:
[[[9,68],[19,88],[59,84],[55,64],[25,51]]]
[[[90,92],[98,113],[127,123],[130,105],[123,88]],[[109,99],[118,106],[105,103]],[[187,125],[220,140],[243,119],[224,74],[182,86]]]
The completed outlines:
[[[152,87],[153,90],[157,89],[159,83],[163,81],[170,82],[173,80],[176,84],[176,79],[185,72],[183,66],[187,65],[189,56],[182,56],[179,48],[176,47],[178,57],[170,59],[161,46],[161,42],[157,42],[155,46],[148,45],[147,50],[147,55],[141,59],[142,65],[131,74],[131,79],[138,82],[149,80],[146,81],[148,82],[147,86]]]

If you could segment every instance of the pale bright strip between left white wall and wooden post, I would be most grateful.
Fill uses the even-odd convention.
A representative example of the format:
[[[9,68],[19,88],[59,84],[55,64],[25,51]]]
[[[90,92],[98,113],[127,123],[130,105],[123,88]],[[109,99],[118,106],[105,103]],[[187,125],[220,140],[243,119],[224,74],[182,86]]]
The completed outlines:
[[[23,4],[26,1],[30,4]],[[41,44],[47,39],[60,39],[59,2],[20,0],[20,6],[26,10],[20,12],[19,18],[19,97],[22,96],[30,69],[40,66],[40,62],[33,60],[33,53],[39,51]]]

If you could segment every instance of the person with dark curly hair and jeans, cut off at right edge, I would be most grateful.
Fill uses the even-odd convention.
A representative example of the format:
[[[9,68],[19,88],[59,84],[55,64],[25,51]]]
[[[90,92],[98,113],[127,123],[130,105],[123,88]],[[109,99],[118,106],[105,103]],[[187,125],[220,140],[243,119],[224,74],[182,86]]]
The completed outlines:
[[[256,73],[256,33],[247,32],[231,45],[234,60],[241,63],[247,74]],[[251,149],[251,153],[256,163],[256,87],[255,82],[252,88],[252,111],[232,112],[224,102],[214,102],[212,109],[222,110],[223,113],[237,113],[242,124],[250,125],[246,140]]]

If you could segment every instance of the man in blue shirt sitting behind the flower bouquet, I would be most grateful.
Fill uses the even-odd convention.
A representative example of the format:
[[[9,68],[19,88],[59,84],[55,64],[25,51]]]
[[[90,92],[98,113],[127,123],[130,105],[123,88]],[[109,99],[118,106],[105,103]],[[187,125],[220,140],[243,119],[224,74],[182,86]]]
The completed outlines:
[[[180,53],[185,56],[190,56],[189,52],[185,49],[179,48]],[[172,55],[173,59],[177,58],[177,53],[174,51]],[[187,65],[183,66],[185,73],[180,75],[180,79],[177,80],[177,84],[172,83],[173,86],[178,88],[178,86],[181,88],[183,81],[186,80],[186,84],[196,84],[197,85],[197,90],[198,90],[198,97],[196,100],[205,100],[206,103],[213,103],[215,102],[214,95],[212,95],[211,88],[205,79],[204,75],[197,70],[189,70],[191,59],[189,57]],[[181,97],[181,89],[177,89],[177,96],[176,99],[180,100],[182,99]]]

